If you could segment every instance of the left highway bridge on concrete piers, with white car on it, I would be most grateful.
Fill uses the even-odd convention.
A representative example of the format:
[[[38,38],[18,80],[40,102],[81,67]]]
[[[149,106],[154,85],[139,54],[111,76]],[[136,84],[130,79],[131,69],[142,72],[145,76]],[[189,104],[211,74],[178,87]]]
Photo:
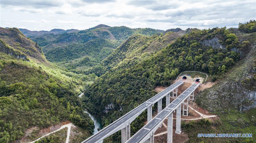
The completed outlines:
[[[130,138],[130,123],[134,119],[136,119],[144,110],[147,109],[147,119],[148,119],[148,122],[149,122],[152,119],[152,105],[154,103],[158,102],[158,114],[160,114],[160,112],[162,111],[162,98],[163,97],[166,96],[166,106],[168,106],[168,108],[169,107],[170,108],[175,108],[176,107],[176,106],[173,106],[173,104],[171,104],[171,106],[169,105],[170,104],[170,93],[173,91],[172,96],[174,97],[174,90],[175,90],[176,96],[177,96],[177,87],[181,86],[186,79],[187,78],[184,77],[181,80],[177,81],[176,83],[172,84],[171,86],[167,87],[162,92],[160,92],[160,93],[156,94],[155,96],[153,96],[152,98],[148,99],[146,102],[137,106],[136,108],[134,108],[133,110],[131,110],[130,112],[128,112],[127,114],[122,116],[121,118],[117,119],[116,121],[114,121],[113,123],[111,123],[107,127],[103,128],[102,130],[100,130],[96,134],[90,136],[89,138],[87,138],[86,140],[84,140],[81,143],[97,143],[97,142],[100,142],[103,139],[107,138],[108,136],[112,135],[113,133],[116,133],[119,130],[121,130],[121,141],[122,141],[122,143],[126,142]],[[178,99],[178,101],[181,101],[181,99]],[[177,102],[177,100],[176,100],[176,102]],[[180,102],[177,102],[177,104],[179,104],[179,103]],[[168,110],[168,108],[166,110]],[[165,112],[166,110],[164,110],[164,113],[162,113],[163,116],[161,116],[161,117],[164,117],[167,114]],[[149,123],[152,123],[152,122],[149,122]],[[144,129],[145,128],[143,128],[142,130],[144,131]],[[152,131],[147,130],[144,137],[142,138],[141,134],[143,134],[143,131],[139,132],[139,134],[140,134],[139,138],[136,137],[136,139],[138,139],[139,141],[142,141],[142,140],[146,139],[148,137],[148,133],[152,132]],[[131,142],[131,140],[129,140],[129,142]]]

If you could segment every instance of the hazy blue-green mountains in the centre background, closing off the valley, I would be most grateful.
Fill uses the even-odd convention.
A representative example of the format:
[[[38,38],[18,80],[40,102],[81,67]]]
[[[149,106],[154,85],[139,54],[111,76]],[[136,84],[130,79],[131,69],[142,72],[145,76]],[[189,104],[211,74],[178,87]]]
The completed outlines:
[[[100,24],[79,32],[44,34],[30,38],[42,46],[46,59],[66,69],[80,72],[100,63],[131,35],[150,36],[160,32],[164,31],[151,28],[131,29],[125,26],[110,27]]]

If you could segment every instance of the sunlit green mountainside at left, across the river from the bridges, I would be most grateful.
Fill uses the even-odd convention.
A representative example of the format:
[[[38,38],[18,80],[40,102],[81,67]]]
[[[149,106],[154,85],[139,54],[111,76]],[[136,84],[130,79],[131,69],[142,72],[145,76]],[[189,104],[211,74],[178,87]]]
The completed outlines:
[[[21,142],[25,135],[32,141],[40,129],[62,121],[90,136],[94,124],[78,94],[94,78],[56,67],[17,28],[0,27],[0,142]]]

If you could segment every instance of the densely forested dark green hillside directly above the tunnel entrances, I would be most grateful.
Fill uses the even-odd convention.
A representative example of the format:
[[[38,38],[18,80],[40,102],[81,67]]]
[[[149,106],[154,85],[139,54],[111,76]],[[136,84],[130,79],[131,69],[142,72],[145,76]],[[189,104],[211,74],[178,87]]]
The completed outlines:
[[[182,71],[207,72],[212,81],[223,78],[224,73],[240,61],[240,52],[243,57],[246,53],[242,51],[250,46],[249,41],[238,38],[226,27],[186,31],[189,33],[174,42],[170,41],[169,45],[160,45],[160,51],[155,50],[145,56],[142,51],[148,48],[148,41],[154,41],[154,36],[140,38],[141,35],[137,35],[126,40],[102,61],[110,66],[98,73],[102,76],[86,90],[83,99],[85,107],[91,113],[100,115],[103,125],[107,126],[155,95],[154,87],[169,85]],[[156,39],[162,41],[161,36],[156,36]],[[218,39],[217,46],[209,45],[212,39]],[[126,58],[127,55],[135,58]],[[110,104],[113,108],[106,110],[105,107]],[[143,126],[145,116],[143,113],[133,121],[132,135]],[[118,132],[105,141],[119,142],[120,135]]]

